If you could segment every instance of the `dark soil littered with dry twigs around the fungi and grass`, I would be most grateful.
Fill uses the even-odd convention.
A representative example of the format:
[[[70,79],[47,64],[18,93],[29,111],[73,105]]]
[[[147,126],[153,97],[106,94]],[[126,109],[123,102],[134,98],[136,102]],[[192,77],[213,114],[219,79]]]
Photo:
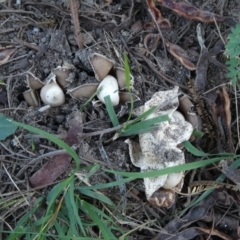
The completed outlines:
[[[112,59],[116,66],[123,67],[124,51],[128,53],[131,74],[134,76],[132,91],[140,98],[140,101],[134,104],[135,107],[143,105],[154,93],[160,90],[172,89],[173,86],[178,85],[180,92],[189,95],[193,99],[193,108],[195,110],[198,108],[198,100],[194,100],[192,96],[194,93],[191,92],[191,81],[196,78],[197,72],[187,69],[182,62],[168,51],[169,49],[166,51],[163,41],[157,41],[155,50],[152,48],[151,42],[147,43],[149,49],[144,44],[146,35],[149,33],[160,34],[157,28],[147,28],[147,23],[153,20],[149,14],[149,6],[146,1],[81,0],[78,13],[84,44],[82,49],[79,48],[77,42],[76,27],[73,24],[69,2],[66,0],[22,0],[20,4],[17,4],[17,1],[13,0],[0,1],[0,44],[2,47],[9,48],[13,46],[14,48],[14,53],[0,66],[0,79],[5,83],[0,85],[0,112],[2,114],[64,139],[70,127],[69,118],[72,117],[73,112],[80,109],[86,99],[76,100],[66,94],[66,101],[62,106],[39,112],[39,108],[44,106],[44,103],[40,102],[37,107],[29,106],[23,96],[23,93],[28,90],[26,84],[27,73],[31,72],[39,79],[44,80],[54,68],[62,66],[63,63],[69,63],[75,68],[73,70],[73,82],[71,87],[68,88],[74,88],[86,83],[97,83],[92,67],[88,62],[88,56],[96,52]],[[185,2],[202,10],[230,17],[226,21],[202,22],[201,28],[203,29],[203,38],[208,49],[207,58],[209,59],[204,92],[215,89],[211,92],[214,92],[215,95],[213,95],[216,96],[216,91],[220,89],[220,86],[225,86],[231,103],[232,145],[229,146],[229,139],[217,139],[216,132],[218,134],[218,131],[214,132],[212,128],[210,133],[205,134],[201,139],[195,140],[193,144],[199,149],[211,153],[229,150],[232,152],[237,151],[236,128],[238,119],[234,90],[227,84],[229,79],[226,77],[224,44],[219,45],[220,49],[217,52],[211,50],[219,40],[220,42],[222,39],[226,40],[229,29],[239,22],[239,1],[190,0]],[[163,38],[191,52],[191,62],[197,65],[201,55],[201,47],[198,43],[196,27],[201,21],[179,16],[172,9],[166,8],[159,3],[156,3],[156,7],[161,11],[163,18],[168,19],[171,23],[171,28],[161,29],[160,32]],[[154,40],[151,41],[154,42]],[[203,107],[205,108],[205,114],[203,115],[208,115],[208,118],[212,119],[212,108],[211,104],[209,104],[209,101],[213,101],[211,96],[203,95],[201,99],[204,101]],[[119,120],[123,123],[127,119],[129,106],[128,108],[125,107],[123,112],[120,111],[121,107],[118,106],[116,112],[120,114]],[[83,110],[82,120],[84,133],[112,127],[104,105],[95,108],[91,103],[88,104]],[[201,130],[204,132],[206,129],[203,126]],[[211,133],[211,130],[213,133]],[[77,153],[82,160],[81,166],[85,167],[89,164],[99,163],[103,167],[117,171],[138,172],[139,169],[134,167],[130,161],[128,145],[124,142],[126,138],[107,141],[111,139],[113,134],[107,133],[102,137],[103,148],[109,162],[104,161],[100,154],[99,135],[82,138],[76,147]],[[0,143],[0,196],[16,190],[5,168],[10,176],[14,178],[18,188],[24,191],[29,188],[29,178],[49,160],[49,158],[42,159],[39,157],[59,150],[55,144],[48,140],[20,128],[15,132],[14,136]],[[226,138],[228,137],[229,135],[226,134]],[[185,152],[185,158],[186,162],[196,160],[187,152]],[[36,159],[34,164],[29,164],[29,161],[34,159]],[[72,162],[57,180],[67,176],[73,165]],[[220,170],[210,168],[197,170],[195,175],[191,171],[186,174],[183,192],[187,192],[188,183],[193,180],[191,178],[210,181],[215,180],[220,174]],[[95,185],[111,181],[115,181],[113,175],[99,170],[92,177],[91,184]],[[125,214],[131,216],[132,219],[137,219],[139,222],[158,219],[160,223],[156,227],[158,230],[160,229],[159,226],[164,228],[169,223],[173,224],[171,221],[175,219],[175,213],[183,209],[184,204],[187,202],[186,196],[177,195],[176,201],[171,208],[155,207],[146,200],[142,180],[128,183],[126,187]],[[37,194],[44,195],[48,189],[37,190]],[[206,232],[203,235],[196,233],[192,235],[193,238],[186,237],[184,239],[240,238],[239,192],[231,192],[224,188],[216,191],[215,195],[213,195],[215,199],[220,199],[222,194],[224,201],[228,199],[229,203],[222,206],[221,203],[216,203],[211,198],[208,200],[210,203],[202,203],[202,205],[208,204],[210,209],[207,209],[209,210],[207,212],[204,210],[202,216],[195,209],[194,213],[199,217],[192,219],[191,217],[194,214],[191,217],[189,217],[189,214],[185,214],[184,217],[187,222],[192,222],[191,227],[212,228],[214,231],[218,230],[221,234],[215,234],[215,236],[213,234],[208,238]],[[123,199],[118,187],[104,189],[103,193],[115,203],[120,203],[120,200]],[[18,211],[20,210],[18,209]],[[14,219],[14,216],[16,219]],[[13,213],[5,221],[14,226],[17,216],[17,213]],[[178,221],[178,218],[175,221]],[[169,226],[172,226],[171,224]],[[170,228],[169,226],[167,229]],[[133,227],[134,225],[124,226],[127,229]],[[134,232],[131,239],[153,239],[160,230],[155,232],[152,230],[155,226],[150,227],[149,229],[145,228]],[[1,223],[1,228],[6,228],[4,223]],[[187,229],[187,227],[181,226],[181,231],[183,229]],[[167,236],[165,238],[159,236],[155,239],[168,238]]]

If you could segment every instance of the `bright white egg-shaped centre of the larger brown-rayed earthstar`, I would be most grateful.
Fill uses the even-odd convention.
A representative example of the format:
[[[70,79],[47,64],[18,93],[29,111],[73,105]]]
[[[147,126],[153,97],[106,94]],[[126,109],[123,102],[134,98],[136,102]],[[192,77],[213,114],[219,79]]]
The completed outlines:
[[[119,104],[119,93],[118,93],[118,82],[117,79],[111,75],[107,75],[99,84],[98,89],[101,88],[97,97],[103,103],[105,103],[104,98],[110,96],[113,106]]]

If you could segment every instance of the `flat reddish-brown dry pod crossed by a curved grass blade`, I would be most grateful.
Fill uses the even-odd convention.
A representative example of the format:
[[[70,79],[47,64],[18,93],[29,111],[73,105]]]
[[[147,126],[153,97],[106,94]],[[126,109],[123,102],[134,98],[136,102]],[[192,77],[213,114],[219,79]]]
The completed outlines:
[[[78,145],[79,134],[82,133],[82,115],[79,111],[72,113],[69,125],[70,128],[64,142],[70,146]],[[53,183],[53,181],[68,168],[71,159],[72,157],[68,153],[54,156],[40,170],[30,177],[30,186],[36,188]]]

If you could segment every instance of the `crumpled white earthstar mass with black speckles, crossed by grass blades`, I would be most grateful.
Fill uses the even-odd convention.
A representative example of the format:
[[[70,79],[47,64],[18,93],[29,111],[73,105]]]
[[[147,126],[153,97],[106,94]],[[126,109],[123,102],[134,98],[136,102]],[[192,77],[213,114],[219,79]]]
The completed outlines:
[[[141,168],[142,172],[184,164],[184,153],[177,145],[187,141],[193,131],[192,125],[185,121],[180,112],[176,111],[178,108],[178,87],[155,93],[134,113],[140,115],[153,106],[157,106],[158,109],[148,118],[168,114],[169,120],[161,122],[157,130],[139,134],[139,143],[130,139],[126,140],[129,145],[131,161],[135,166]],[[162,187],[175,188],[177,191],[181,191],[183,177],[184,173],[180,172],[144,178],[147,199],[150,200],[153,194]]]

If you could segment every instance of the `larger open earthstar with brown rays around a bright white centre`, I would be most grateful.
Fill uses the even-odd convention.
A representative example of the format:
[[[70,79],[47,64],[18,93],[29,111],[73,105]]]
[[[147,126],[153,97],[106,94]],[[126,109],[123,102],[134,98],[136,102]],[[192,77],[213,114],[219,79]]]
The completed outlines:
[[[114,61],[106,58],[105,56],[93,53],[89,56],[89,62],[95,73],[95,78],[100,83],[83,84],[74,89],[68,90],[67,93],[76,99],[90,98],[96,93],[99,100],[93,103],[94,106],[99,106],[104,102],[104,97],[110,96],[113,106],[126,104],[131,101],[137,101],[139,98],[129,92],[120,92],[126,88],[125,70],[123,68],[115,67]],[[133,76],[130,75],[130,83],[133,85]]]

